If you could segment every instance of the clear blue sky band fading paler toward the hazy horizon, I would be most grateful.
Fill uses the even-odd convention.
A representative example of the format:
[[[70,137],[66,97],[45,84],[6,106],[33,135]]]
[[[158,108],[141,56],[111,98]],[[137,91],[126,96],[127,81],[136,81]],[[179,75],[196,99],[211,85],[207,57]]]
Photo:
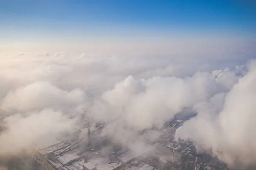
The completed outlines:
[[[1,0],[8,42],[256,37],[253,0]],[[4,42],[3,42],[4,41]]]

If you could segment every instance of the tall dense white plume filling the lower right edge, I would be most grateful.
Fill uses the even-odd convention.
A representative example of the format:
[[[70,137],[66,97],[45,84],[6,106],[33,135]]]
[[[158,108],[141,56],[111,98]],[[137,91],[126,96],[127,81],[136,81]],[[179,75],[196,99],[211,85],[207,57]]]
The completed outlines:
[[[197,104],[198,115],[176,132],[177,138],[194,141],[199,151],[240,169],[255,165],[256,158],[256,62],[248,69],[229,92]]]

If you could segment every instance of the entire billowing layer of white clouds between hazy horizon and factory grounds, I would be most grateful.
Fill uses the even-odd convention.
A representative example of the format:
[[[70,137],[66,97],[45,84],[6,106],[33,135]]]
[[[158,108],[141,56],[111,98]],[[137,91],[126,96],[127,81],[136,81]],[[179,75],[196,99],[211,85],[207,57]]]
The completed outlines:
[[[108,122],[101,135],[144,153],[145,138],[155,138],[157,130],[140,132],[186,111],[197,116],[177,138],[228,164],[252,164],[256,65],[246,62],[176,55],[2,56],[0,112],[15,115],[0,133],[0,154],[15,155],[74,132],[84,110],[92,121]]]

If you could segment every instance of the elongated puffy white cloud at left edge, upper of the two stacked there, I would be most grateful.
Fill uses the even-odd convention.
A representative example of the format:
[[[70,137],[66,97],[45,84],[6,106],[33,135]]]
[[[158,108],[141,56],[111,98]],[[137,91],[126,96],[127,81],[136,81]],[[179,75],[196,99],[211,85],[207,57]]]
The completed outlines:
[[[55,107],[76,109],[84,104],[84,100],[85,94],[81,89],[67,92],[47,81],[41,81],[8,92],[0,107],[6,112],[28,112]]]

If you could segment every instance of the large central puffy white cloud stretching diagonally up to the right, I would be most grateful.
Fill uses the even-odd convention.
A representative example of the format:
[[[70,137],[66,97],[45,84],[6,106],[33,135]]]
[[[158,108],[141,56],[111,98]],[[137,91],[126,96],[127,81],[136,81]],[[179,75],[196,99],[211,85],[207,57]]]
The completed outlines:
[[[185,109],[191,110],[210,98],[212,103],[223,98],[218,93],[225,92],[227,86],[225,79],[219,77],[221,73],[217,76],[209,72],[197,72],[186,78],[135,79],[130,75],[104,92],[90,113],[97,121],[110,121],[105,133],[127,143],[137,138],[139,131],[152,126],[161,127]],[[233,77],[233,74],[226,75],[231,80]],[[216,104],[221,104],[221,101]]]

